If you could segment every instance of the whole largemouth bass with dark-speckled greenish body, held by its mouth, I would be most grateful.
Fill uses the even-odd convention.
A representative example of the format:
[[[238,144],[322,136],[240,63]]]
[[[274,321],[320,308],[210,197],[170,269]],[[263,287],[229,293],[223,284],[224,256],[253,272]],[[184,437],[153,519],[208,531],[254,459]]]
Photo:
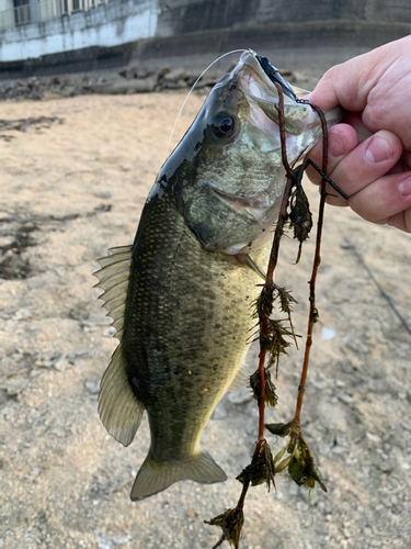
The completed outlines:
[[[151,442],[130,498],[182,480],[222,482],[202,432],[248,350],[252,304],[286,183],[278,92],[246,51],[213,88],[147,198],[134,243],[99,259],[96,287],[119,340],[102,378],[99,414],[122,445],[147,412]],[[284,80],[293,166],[321,135],[318,115]],[[340,112],[327,113],[328,124]]]

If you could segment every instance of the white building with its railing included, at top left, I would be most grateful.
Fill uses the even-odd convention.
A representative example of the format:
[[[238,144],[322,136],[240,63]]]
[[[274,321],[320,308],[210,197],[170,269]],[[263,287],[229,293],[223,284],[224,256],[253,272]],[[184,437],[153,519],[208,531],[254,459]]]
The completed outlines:
[[[156,35],[157,0],[0,0],[0,63]]]

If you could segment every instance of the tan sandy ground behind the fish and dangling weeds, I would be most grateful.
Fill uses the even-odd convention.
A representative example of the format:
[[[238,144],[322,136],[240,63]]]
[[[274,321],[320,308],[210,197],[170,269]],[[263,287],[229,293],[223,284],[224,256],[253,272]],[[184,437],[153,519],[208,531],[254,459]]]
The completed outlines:
[[[229,480],[181,482],[140,503],[128,493],[148,449],[147,421],[125,449],[96,412],[115,339],[92,288],[95,258],[133,240],[183,98],[0,105],[0,119],[61,120],[0,132],[2,548],[212,548],[220,533],[203,520],[239,496],[235,478],[256,437],[256,407],[246,389],[224,397],[203,436]],[[193,98],[182,126],[203,99]],[[315,204],[317,190],[307,187]],[[299,333],[312,243],[294,266],[297,246],[285,239],[277,271],[299,302]],[[253,489],[242,549],[410,547],[411,336],[357,255],[411,324],[410,249],[410,235],[328,210],[302,418],[328,494],[309,494],[286,474],[276,492]],[[283,360],[271,421],[290,419],[300,365],[298,351]]]

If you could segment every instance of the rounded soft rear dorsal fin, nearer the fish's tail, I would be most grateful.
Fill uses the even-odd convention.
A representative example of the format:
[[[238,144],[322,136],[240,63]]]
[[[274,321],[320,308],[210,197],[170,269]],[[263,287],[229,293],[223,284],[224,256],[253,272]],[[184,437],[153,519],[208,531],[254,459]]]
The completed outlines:
[[[99,414],[107,432],[128,446],[141,423],[144,405],[137,400],[130,388],[122,344],[112,356],[112,360],[101,380],[99,394]]]

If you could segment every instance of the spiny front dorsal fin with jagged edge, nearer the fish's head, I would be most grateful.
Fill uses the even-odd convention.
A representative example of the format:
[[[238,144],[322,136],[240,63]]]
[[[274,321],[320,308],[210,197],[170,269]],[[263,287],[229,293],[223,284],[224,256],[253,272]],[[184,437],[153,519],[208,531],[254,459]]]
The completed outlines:
[[[112,326],[117,330],[116,337],[122,340],[133,246],[110,248],[110,256],[98,259],[102,268],[94,272],[99,279],[95,287],[104,290],[100,298],[109,310],[107,316],[113,318]]]

